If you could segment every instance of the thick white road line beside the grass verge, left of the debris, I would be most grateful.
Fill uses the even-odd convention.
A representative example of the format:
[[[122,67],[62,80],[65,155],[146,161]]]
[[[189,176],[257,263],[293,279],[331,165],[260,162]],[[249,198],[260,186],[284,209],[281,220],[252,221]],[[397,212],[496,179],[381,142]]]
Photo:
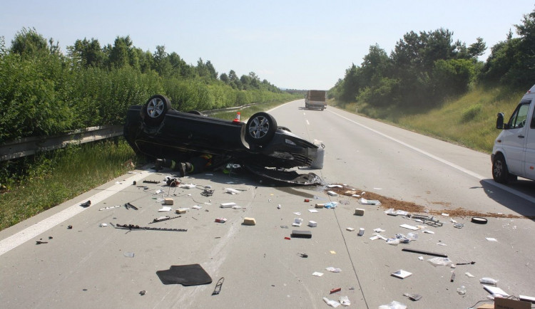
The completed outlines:
[[[121,184],[114,184],[108,189],[98,192],[97,194],[94,194],[88,199],[84,199],[84,201],[90,200],[91,205],[98,204],[104,199],[111,197],[113,194],[116,194],[117,192],[126,189],[126,187],[131,186],[133,181],[141,180],[147,177],[149,174],[152,174],[152,172],[138,172],[138,174],[134,174],[132,177],[123,180]],[[29,226],[26,229],[7,237],[6,239],[2,239],[0,241],[0,256],[13,248],[20,246],[26,241],[34,239],[36,236],[39,236],[39,234],[48,231],[54,226],[61,224],[61,222],[66,221],[67,219],[71,219],[73,216],[76,216],[77,214],[80,214],[82,211],[91,207],[89,206],[87,208],[84,208],[80,206],[80,204],[81,203],[73,204],[72,206],[69,206],[68,208],[58,212],[57,214],[49,216],[48,218],[39,221],[38,223]]]

